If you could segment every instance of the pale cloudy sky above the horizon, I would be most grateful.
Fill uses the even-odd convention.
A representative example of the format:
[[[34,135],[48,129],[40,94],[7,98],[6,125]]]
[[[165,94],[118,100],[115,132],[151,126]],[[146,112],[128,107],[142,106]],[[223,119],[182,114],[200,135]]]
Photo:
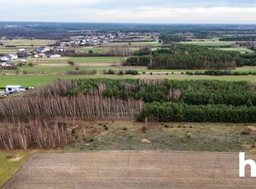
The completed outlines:
[[[2,0],[0,21],[256,24],[256,0]]]

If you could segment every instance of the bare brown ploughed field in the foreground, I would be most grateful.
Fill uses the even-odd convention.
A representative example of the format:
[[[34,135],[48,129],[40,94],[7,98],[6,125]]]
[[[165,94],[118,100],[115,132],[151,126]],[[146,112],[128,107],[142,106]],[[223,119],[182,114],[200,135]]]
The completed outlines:
[[[3,188],[255,188],[249,169],[238,172],[238,153],[35,154]]]

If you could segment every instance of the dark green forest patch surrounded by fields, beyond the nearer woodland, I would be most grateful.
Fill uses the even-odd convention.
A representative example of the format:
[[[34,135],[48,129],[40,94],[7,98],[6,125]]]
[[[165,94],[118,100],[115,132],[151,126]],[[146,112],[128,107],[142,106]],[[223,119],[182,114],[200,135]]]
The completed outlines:
[[[139,52],[137,54],[140,54]],[[126,65],[147,66],[149,69],[235,69],[254,63],[254,58],[241,57],[240,53],[224,52],[197,45],[173,44],[152,52],[127,59]]]

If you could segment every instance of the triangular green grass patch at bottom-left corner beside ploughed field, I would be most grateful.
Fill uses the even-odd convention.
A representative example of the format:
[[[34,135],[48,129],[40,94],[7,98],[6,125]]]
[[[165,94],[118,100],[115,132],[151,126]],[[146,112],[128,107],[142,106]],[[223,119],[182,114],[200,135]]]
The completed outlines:
[[[36,153],[37,150],[0,150],[0,187],[21,168],[22,164]]]

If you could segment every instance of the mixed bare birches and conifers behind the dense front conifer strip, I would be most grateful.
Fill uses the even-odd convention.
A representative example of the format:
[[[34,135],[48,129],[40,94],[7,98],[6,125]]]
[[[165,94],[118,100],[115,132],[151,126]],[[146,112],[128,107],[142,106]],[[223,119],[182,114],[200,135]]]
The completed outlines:
[[[186,104],[192,108],[209,104],[215,108],[221,104],[254,110],[255,91],[256,86],[247,81],[60,80],[21,99],[1,101],[0,120],[57,117],[133,119],[152,103]],[[16,111],[12,111],[14,106]]]

